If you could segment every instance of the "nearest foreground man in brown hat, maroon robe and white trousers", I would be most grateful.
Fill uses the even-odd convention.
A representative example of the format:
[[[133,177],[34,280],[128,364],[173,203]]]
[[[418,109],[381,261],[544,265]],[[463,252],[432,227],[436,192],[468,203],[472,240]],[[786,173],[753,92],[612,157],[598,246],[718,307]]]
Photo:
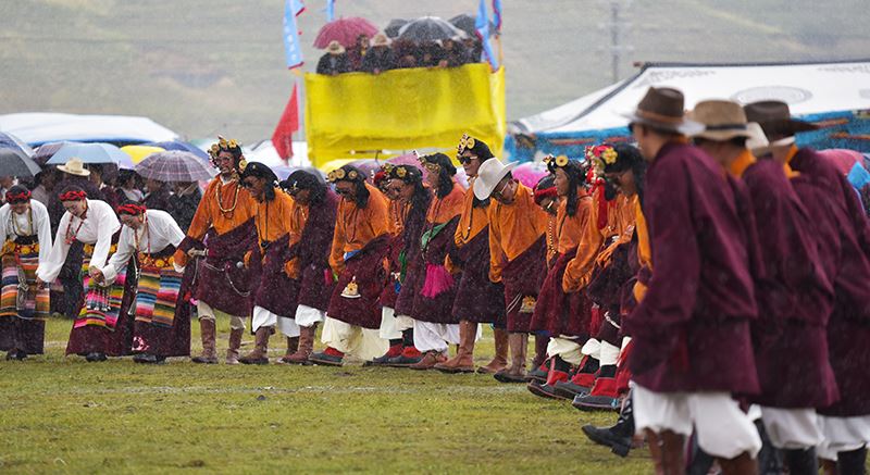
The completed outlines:
[[[761,440],[731,397],[758,391],[747,229],[720,166],[686,143],[701,126],[683,117],[682,92],[649,88],[629,120],[650,162],[644,215],[656,263],[623,322],[633,336],[636,429],[666,473],[684,470],[693,429],[723,473],[756,473]]]

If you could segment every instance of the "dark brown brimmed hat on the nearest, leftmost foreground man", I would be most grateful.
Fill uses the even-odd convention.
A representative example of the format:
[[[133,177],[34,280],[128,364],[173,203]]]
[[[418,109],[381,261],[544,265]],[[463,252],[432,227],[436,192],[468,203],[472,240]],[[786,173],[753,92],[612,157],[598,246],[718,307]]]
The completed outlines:
[[[661,130],[694,135],[703,125],[685,117],[683,92],[670,87],[650,87],[641,99],[637,109],[622,114],[632,124],[642,124]]]

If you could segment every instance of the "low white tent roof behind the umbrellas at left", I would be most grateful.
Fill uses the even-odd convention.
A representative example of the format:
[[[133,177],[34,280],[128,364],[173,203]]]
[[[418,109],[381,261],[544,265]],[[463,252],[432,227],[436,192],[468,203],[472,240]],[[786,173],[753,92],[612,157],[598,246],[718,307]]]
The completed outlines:
[[[0,115],[0,132],[14,134],[30,146],[62,140],[144,143],[178,138],[178,134],[148,117],[53,112]]]

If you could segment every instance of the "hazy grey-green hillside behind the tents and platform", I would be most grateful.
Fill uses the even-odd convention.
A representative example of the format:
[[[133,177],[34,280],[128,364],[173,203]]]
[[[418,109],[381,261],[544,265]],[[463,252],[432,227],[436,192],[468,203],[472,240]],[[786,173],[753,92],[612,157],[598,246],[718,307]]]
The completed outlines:
[[[476,0],[339,0],[378,25],[473,12]],[[487,2],[489,3],[489,2]],[[506,0],[508,115],[518,118],[610,83],[607,2]],[[834,4],[834,2],[830,2]],[[323,0],[300,17],[306,71]],[[785,61],[870,55],[866,0],[634,1],[621,76],[633,61]],[[0,4],[0,113],[147,115],[188,136],[271,136],[291,74],[282,0],[22,0]]]

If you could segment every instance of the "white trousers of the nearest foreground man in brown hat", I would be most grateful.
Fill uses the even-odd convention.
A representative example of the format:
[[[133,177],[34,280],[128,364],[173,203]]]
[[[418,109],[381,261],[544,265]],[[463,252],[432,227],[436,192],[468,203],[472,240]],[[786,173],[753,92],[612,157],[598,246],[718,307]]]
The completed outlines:
[[[655,392],[634,384],[632,404],[637,434],[672,430],[688,437],[694,428],[698,446],[721,459],[761,450],[758,429],[728,392]]]

